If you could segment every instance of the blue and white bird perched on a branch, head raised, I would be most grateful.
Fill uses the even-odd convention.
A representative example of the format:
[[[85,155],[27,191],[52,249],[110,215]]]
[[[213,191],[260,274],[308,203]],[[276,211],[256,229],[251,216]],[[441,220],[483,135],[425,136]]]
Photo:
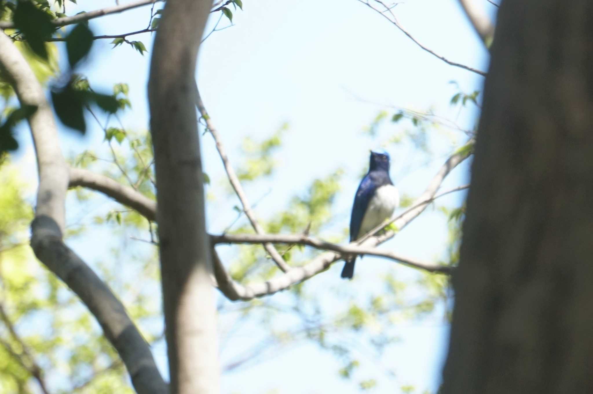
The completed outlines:
[[[393,214],[400,203],[397,188],[389,177],[389,155],[371,152],[369,172],[356,190],[350,217],[350,242],[356,241]],[[344,264],[342,278],[352,279],[356,256]]]

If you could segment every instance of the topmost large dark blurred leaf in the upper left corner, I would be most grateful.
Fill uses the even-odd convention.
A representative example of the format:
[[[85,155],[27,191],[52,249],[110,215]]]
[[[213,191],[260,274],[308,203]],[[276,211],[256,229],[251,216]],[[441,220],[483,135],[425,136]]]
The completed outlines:
[[[45,41],[52,36],[54,29],[51,20],[50,15],[35,7],[30,1],[17,2],[17,8],[12,16],[12,22],[23,33],[27,45],[45,60],[47,60]]]

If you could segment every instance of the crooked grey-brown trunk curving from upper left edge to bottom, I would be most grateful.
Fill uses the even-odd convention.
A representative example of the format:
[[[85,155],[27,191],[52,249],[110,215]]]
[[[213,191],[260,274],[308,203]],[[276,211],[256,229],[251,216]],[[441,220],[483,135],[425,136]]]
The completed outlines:
[[[138,393],[163,394],[162,380],[151,351],[122,303],[62,241],[68,165],[60,150],[52,108],[33,71],[4,32],[0,31],[0,65],[11,79],[21,105],[34,105],[28,118],[39,169],[36,217],[31,223],[31,247],[37,258],[85,303],[126,364]]]

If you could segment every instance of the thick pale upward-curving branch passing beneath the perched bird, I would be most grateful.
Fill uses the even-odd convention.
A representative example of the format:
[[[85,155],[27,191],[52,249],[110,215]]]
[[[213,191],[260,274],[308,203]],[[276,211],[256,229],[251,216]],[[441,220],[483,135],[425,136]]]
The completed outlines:
[[[470,152],[463,150],[461,152],[456,152],[449,157],[445,164],[441,166],[441,169],[439,169],[436,175],[432,178],[426,190],[419,198],[417,198],[413,207],[394,219],[394,223],[396,223],[398,229],[403,229],[426,209],[428,204],[430,204],[428,201],[432,201],[445,177],[447,177],[449,172],[463,162],[469,155]],[[377,229],[377,231],[380,229],[381,228]],[[396,235],[396,232],[390,230],[383,235],[372,236],[362,242],[362,246],[372,248],[373,246],[377,246],[382,244],[382,242],[393,238],[394,235]],[[302,267],[293,267],[287,273],[274,277],[268,281],[243,285],[232,280],[220,261],[216,251],[213,253],[212,257],[218,289],[225,294],[229,300],[251,300],[256,297],[263,297],[280,292],[288,289],[288,287],[294,284],[300,283],[327,270],[333,262],[342,258],[342,256],[336,252],[322,253]]]

